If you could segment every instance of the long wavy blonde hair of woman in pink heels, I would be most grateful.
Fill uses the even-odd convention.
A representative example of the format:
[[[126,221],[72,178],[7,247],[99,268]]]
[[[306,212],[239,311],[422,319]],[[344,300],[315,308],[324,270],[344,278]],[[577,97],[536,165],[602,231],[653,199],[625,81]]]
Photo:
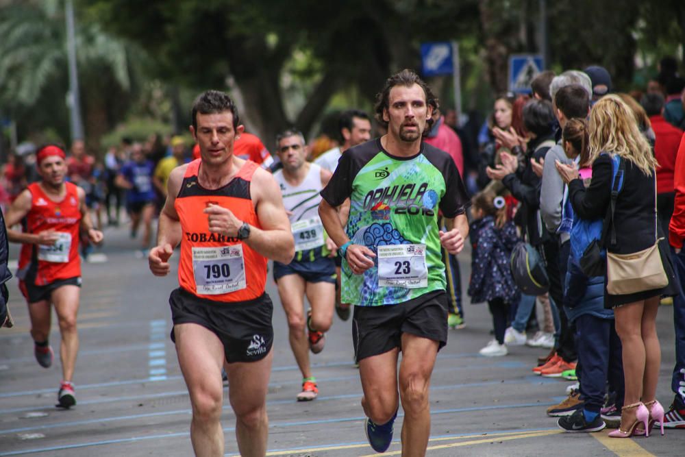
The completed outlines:
[[[633,162],[651,176],[658,163],[647,138],[640,133],[637,120],[625,101],[617,95],[602,97],[590,110],[590,161],[606,151]]]

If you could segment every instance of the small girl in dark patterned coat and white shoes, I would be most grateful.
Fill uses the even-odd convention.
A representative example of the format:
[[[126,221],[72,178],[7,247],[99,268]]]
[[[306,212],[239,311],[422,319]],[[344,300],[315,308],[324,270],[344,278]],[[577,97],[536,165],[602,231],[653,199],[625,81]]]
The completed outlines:
[[[514,223],[507,219],[503,197],[484,190],[472,199],[471,214],[471,303],[488,302],[493,314],[495,339],[480,350],[488,357],[506,356],[504,331],[507,328],[508,307],[519,300],[519,288],[514,284],[509,262],[514,245],[519,242]]]

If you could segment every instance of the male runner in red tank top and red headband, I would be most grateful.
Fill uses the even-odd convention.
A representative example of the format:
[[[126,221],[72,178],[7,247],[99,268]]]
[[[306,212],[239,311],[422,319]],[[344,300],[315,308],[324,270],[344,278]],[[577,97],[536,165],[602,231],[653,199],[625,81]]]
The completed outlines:
[[[71,381],[79,350],[76,330],[81,287],[79,230],[92,243],[100,243],[103,236],[92,227],[84,190],[64,182],[67,170],[64,151],[54,145],[42,147],[36,155],[36,166],[42,180],[30,184],[16,197],[5,216],[5,224],[9,240],[23,243],[17,272],[19,289],[29,306],[34,355],[45,368],[52,365],[53,351],[48,336],[50,304],[55,305],[62,336],[62,384],[57,406],[69,408],[76,404]],[[20,221],[23,221],[23,232],[10,230]]]

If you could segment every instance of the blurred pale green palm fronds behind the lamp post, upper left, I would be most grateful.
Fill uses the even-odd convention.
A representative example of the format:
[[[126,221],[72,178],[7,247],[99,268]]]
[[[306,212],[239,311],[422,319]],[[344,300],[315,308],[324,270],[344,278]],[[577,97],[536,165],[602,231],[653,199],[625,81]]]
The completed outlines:
[[[0,14],[0,108],[20,136],[56,129],[69,138],[66,29],[62,1],[11,1]],[[78,18],[77,18],[78,20]],[[129,51],[99,23],[77,22],[77,64],[89,145],[122,118],[134,90]]]

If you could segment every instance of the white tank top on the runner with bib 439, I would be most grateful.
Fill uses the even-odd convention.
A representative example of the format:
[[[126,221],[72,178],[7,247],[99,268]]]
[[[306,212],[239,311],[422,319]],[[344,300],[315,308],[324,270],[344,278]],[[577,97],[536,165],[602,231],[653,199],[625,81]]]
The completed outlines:
[[[325,243],[323,224],[319,219],[319,203],[323,189],[321,186],[321,166],[310,164],[309,173],[298,186],[288,184],[279,170],[273,173],[283,195],[283,204],[290,211],[292,236],[295,238],[295,251],[310,251]],[[318,249],[317,249],[318,250]],[[301,256],[297,256],[299,260]]]

